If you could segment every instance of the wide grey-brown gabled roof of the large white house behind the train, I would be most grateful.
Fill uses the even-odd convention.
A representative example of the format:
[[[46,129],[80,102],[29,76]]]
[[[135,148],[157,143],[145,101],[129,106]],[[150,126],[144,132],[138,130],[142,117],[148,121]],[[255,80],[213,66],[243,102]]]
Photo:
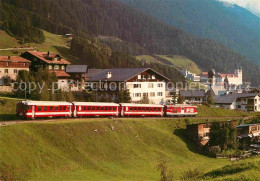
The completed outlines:
[[[89,69],[86,77],[86,81],[115,81],[115,82],[125,82],[129,79],[141,74],[145,71],[153,71],[154,74],[159,75],[165,80],[170,80],[167,77],[161,75],[160,73],[150,69],[150,68],[111,68],[111,69]],[[107,79],[106,75],[111,72],[111,78]]]

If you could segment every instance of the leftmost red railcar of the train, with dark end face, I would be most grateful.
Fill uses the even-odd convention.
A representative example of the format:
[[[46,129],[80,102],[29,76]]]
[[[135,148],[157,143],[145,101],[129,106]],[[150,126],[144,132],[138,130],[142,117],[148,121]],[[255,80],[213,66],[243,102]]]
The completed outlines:
[[[54,101],[22,101],[17,103],[16,114],[22,119],[71,117],[72,104]]]

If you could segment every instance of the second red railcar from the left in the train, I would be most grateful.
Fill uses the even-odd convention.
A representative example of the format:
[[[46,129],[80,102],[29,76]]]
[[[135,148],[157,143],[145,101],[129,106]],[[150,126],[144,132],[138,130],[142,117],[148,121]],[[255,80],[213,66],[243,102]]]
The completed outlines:
[[[74,102],[74,117],[84,116],[118,116],[119,104],[99,102]]]

